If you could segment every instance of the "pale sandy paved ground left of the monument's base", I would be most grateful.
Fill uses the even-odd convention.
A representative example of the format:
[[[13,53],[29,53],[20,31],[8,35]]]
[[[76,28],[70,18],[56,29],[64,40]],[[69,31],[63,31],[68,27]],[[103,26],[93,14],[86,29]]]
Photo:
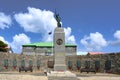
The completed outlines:
[[[0,73],[0,80],[48,80],[44,74],[31,72],[4,72]]]

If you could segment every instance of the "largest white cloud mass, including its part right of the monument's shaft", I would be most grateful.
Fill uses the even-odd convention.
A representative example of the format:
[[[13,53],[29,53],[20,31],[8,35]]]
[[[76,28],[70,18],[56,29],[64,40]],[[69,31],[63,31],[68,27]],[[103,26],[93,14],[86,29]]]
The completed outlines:
[[[27,10],[27,13],[15,14],[15,20],[26,32],[40,33],[42,35],[42,41],[53,41],[54,29],[57,27],[54,13],[49,10],[41,10],[33,7],[28,7]],[[64,30],[66,41],[75,43],[75,37],[71,35],[71,28],[64,28]],[[52,34],[48,35],[49,32],[52,32]]]

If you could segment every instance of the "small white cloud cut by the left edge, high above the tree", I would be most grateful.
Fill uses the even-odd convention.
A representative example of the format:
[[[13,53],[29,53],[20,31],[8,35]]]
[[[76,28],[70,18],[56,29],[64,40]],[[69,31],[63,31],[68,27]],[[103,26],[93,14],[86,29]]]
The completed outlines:
[[[9,28],[12,24],[11,17],[9,15],[5,15],[3,12],[0,12],[0,28]]]

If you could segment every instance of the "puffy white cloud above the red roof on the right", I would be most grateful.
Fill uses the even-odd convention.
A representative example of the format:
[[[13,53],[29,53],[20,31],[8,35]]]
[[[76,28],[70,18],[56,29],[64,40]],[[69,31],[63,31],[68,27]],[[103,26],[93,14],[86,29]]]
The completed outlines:
[[[107,46],[107,41],[99,32],[90,33],[89,36],[84,36],[84,38],[81,39],[80,42],[85,46],[88,51],[99,51],[103,47]]]

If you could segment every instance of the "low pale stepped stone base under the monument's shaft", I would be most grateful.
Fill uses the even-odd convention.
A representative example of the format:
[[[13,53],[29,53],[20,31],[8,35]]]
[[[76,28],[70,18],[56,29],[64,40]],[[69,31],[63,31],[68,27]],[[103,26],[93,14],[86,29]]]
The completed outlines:
[[[79,80],[74,73],[70,71],[51,71],[47,73],[48,80]]]

